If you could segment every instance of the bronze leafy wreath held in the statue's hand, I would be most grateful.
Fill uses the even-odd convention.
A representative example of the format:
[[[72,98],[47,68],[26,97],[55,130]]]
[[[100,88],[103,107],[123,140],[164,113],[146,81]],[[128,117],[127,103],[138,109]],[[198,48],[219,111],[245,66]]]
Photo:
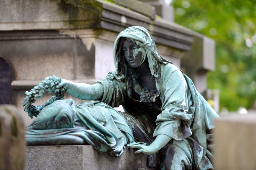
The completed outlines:
[[[56,88],[56,85],[58,85],[61,82],[61,78],[56,76],[50,76],[45,78],[42,83],[39,83],[36,85],[33,89],[30,90],[30,92],[26,92],[27,95],[22,103],[22,106],[24,106],[24,111],[28,112],[28,116],[32,119],[33,116],[37,117],[39,112],[46,106],[52,104],[56,100],[62,100],[64,97],[64,94],[66,92],[66,86],[62,86],[60,88]],[[42,106],[38,105],[35,106],[33,103],[36,102],[37,99],[41,99],[44,95],[44,92],[52,93],[54,92],[54,95],[47,100]]]

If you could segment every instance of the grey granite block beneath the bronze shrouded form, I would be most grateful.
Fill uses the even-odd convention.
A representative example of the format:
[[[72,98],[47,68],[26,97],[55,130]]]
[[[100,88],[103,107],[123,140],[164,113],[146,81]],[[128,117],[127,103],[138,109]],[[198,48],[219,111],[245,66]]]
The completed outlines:
[[[86,145],[27,146],[25,170],[151,169],[147,166],[147,155],[134,152],[125,148],[121,156],[112,157]]]

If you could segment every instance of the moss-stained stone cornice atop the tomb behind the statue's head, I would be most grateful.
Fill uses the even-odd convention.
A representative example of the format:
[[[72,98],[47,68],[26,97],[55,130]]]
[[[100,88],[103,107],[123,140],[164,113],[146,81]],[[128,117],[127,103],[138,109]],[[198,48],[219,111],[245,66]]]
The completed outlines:
[[[132,0],[125,3],[129,4],[128,1]],[[147,4],[140,4],[140,9],[153,10]],[[0,18],[0,31],[89,28],[95,30],[97,36],[102,30],[119,33],[129,26],[143,26],[150,31],[157,44],[190,50],[193,33],[189,29],[161,18],[154,19],[150,17],[152,13],[154,11],[139,13],[103,0],[4,0],[0,1],[0,16],[7,17]]]

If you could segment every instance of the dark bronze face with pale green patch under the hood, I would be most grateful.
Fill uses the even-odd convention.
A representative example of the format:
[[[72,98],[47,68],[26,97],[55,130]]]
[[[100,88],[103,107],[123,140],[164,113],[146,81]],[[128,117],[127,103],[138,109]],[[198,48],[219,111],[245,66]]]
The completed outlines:
[[[127,39],[124,40],[123,52],[126,61],[133,68],[140,66],[146,58],[146,50]]]

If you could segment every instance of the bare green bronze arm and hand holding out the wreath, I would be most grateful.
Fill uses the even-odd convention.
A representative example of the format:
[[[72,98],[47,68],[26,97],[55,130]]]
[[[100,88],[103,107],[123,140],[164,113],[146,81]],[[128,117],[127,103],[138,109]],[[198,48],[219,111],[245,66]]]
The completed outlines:
[[[74,83],[72,81],[61,79],[57,88],[66,86],[66,90],[72,96],[82,100],[96,100],[102,96],[103,86],[100,83],[89,85],[86,83]]]

